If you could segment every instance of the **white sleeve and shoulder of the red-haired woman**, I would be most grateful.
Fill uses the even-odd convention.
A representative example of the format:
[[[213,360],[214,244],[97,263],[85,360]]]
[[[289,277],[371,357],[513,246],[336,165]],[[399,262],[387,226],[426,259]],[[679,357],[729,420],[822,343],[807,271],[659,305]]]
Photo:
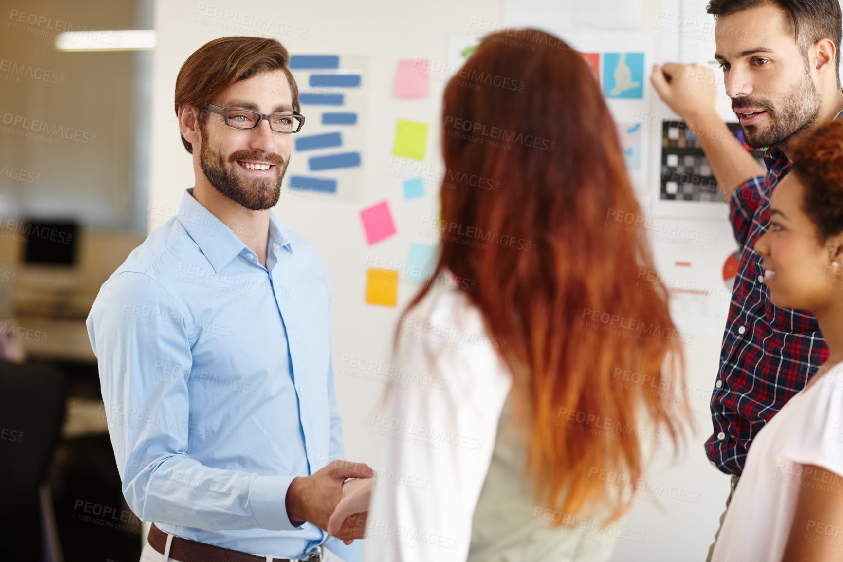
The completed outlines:
[[[364,541],[367,560],[465,560],[471,519],[512,385],[480,312],[438,286],[402,317],[398,369],[421,375],[390,387],[373,431],[384,440]],[[443,384],[423,381],[444,379]]]

